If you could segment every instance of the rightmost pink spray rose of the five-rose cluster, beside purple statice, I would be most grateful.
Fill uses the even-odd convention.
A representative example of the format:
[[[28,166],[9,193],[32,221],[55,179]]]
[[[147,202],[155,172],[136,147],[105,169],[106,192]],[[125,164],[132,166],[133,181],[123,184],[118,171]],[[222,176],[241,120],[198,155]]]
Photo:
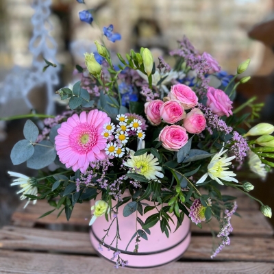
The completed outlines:
[[[203,115],[203,112],[199,108],[194,108],[184,119],[184,127],[189,133],[197,134],[203,131],[206,128],[206,118]]]

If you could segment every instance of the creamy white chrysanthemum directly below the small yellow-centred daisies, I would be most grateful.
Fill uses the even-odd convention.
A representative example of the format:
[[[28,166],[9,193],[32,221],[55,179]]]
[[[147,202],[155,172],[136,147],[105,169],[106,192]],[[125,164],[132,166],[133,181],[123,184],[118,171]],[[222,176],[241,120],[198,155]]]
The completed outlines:
[[[164,177],[164,174],[160,173],[162,168],[159,166],[158,159],[152,154],[142,154],[134,156],[134,151],[129,151],[130,158],[124,163],[124,166],[131,168],[130,172],[138,173],[145,176],[147,179],[158,179]],[[157,176],[157,177],[156,177]]]

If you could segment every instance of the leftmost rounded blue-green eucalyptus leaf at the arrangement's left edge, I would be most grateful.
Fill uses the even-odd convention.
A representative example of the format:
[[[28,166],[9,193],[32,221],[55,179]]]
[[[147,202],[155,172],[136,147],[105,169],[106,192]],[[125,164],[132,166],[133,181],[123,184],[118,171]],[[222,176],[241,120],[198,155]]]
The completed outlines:
[[[12,164],[22,164],[32,157],[34,154],[34,146],[28,140],[20,140],[16,142],[10,153]]]

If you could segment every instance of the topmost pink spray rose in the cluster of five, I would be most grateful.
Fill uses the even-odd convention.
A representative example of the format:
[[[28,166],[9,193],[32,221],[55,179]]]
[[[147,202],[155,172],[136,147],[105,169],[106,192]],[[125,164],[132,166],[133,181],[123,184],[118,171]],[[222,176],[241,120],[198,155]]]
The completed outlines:
[[[195,95],[195,92],[189,86],[183,84],[172,86],[168,96],[182,103],[185,110],[195,107],[198,103],[198,97]]]

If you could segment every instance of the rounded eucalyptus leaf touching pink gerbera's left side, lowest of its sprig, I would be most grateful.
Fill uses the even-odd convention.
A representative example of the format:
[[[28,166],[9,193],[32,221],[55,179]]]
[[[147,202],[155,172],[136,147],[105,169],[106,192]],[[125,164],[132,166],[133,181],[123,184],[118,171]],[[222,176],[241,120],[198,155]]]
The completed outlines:
[[[34,154],[27,160],[29,169],[42,169],[51,164],[56,158],[56,151],[49,140],[42,140],[39,144],[47,147],[35,146]]]

